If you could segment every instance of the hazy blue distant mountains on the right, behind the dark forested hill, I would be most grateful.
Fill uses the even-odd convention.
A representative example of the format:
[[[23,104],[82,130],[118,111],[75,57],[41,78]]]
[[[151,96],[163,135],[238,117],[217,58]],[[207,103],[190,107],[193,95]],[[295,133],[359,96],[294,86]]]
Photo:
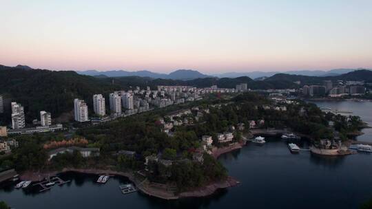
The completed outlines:
[[[256,79],[262,77],[270,77],[275,74],[291,74],[299,76],[340,76],[341,74],[347,74],[358,69],[331,69],[329,71],[322,70],[298,70],[298,71],[287,71],[287,72],[230,72],[225,74],[214,74],[218,78],[236,78],[240,76],[248,76],[249,78]],[[371,70],[371,69],[369,69]]]

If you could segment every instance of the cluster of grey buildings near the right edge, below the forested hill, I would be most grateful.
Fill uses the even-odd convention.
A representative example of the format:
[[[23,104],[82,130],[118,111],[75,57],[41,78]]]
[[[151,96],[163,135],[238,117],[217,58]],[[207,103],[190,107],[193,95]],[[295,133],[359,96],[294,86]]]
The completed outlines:
[[[363,95],[366,93],[366,87],[360,81],[346,81],[339,80],[333,83],[331,80],[324,80],[322,85],[304,85],[302,87],[302,94],[305,96],[329,96],[341,97],[344,95]]]

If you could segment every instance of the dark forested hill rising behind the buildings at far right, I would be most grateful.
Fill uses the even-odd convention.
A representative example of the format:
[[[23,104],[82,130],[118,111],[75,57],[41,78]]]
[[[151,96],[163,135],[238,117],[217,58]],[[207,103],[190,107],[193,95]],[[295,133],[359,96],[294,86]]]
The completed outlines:
[[[354,72],[342,74],[340,76],[299,76],[290,74],[275,74],[265,81],[301,81],[303,85],[322,83],[323,80],[364,80],[366,82],[372,82],[372,71],[367,69],[359,69]]]

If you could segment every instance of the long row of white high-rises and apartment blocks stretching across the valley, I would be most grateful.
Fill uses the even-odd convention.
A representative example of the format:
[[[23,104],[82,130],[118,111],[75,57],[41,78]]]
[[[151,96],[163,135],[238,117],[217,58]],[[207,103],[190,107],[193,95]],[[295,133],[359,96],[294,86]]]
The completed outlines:
[[[89,118],[88,106],[84,100],[74,99],[74,120],[77,122],[92,121],[93,123],[113,120],[118,117],[132,115],[150,110],[152,107],[163,108],[173,104],[200,100],[204,94],[235,93],[247,90],[247,84],[240,84],[240,90],[221,89],[216,85],[208,88],[190,86],[158,86],[156,90],[150,87],[141,89],[136,87],[129,91],[114,91],[110,94],[110,116],[107,116],[105,98],[102,94],[93,96],[93,111],[96,117]]]

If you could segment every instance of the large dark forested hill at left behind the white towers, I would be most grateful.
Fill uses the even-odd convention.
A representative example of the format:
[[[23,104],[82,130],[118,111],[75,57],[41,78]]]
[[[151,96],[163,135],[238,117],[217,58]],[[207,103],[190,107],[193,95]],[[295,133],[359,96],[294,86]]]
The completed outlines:
[[[115,89],[120,87],[109,80],[71,71],[0,67],[0,94],[20,102],[25,107],[28,121],[39,118],[41,110],[50,111],[53,118],[58,117],[72,111],[74,98],[90,102],[93,94],[105,94]]]

